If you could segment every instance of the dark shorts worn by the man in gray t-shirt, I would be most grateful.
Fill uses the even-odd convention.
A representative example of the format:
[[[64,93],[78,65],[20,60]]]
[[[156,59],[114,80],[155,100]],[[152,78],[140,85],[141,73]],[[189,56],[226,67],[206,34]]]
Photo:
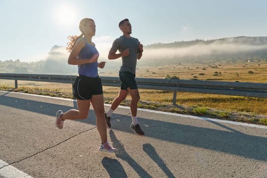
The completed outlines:
[[[120,72],[118,75],[122,82],[121,90],[127,90],[128,87],[130,87],[131,90],[138,89],[135,81],[135,74],[132,72]]]

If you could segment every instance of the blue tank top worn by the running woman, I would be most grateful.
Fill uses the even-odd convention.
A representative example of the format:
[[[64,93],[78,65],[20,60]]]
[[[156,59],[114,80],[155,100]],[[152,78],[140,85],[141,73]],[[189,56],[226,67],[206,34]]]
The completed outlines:
[[[98,54],[97,48],[87,42],[78,54],[79,58],[90,58],[94,54]],[[78,73],[87,77],[98,76],[98,62],[78,65]]]

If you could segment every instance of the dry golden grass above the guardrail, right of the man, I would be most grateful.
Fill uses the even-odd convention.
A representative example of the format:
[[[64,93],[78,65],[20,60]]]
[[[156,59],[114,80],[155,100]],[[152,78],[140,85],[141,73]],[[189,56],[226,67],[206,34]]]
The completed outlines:
[[[138,67],[136,77],[165,78],[167,75],[180,79],[215,81],[240,81],[266,83],[267,62],[217,62],[203,64]],[[249,73],[252,71],[253,73]],[[204,75],[199,75],[199,74]],[[194,77],[195,76],[195,77]],[[256,81],[255,81],[256,78]]]

